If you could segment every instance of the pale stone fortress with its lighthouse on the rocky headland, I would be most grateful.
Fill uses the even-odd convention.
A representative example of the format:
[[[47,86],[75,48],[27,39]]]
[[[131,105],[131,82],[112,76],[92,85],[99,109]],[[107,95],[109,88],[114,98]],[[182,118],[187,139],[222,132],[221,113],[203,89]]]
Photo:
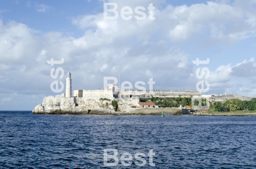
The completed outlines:
[[[133,112],[160,112],[170,111],[170,108],[157,108],[157,106],[140,104],[141,98],[170,98],[170,97],[195,97],[200,98],[202,94],[197,90],[139,90],[139,89],[117,89],[116,84],[109,84],[108,89],[96,90],[74,90],[72,96],[71,73],[67,73],[66,93],[60,97],[45,97],[43,103],[37,105],[33,114],[117,114]],[[223,101],[225,98],[239,98],[250,100],[251,98],[236,95],[210,95],[210,101]],[[113,102],[118,104],[118,112]],[[154,109],[153,109],[154,108]],[[181,108],[172,108],[172,112],[181,111]]]

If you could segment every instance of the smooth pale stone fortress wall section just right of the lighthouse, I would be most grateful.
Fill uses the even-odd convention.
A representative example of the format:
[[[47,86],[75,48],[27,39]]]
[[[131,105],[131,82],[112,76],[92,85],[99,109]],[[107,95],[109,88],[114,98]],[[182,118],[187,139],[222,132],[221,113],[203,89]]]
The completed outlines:
[[[82,98],[99,100],[100,98],[108,98],[113,100],[113,91],[111,89],[102,90],[83,90]]]

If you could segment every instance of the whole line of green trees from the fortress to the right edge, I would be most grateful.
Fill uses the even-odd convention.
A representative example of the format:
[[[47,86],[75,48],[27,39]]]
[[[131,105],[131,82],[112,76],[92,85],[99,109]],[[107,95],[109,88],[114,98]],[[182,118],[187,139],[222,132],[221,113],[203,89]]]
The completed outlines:
[[[159,107],[182,107],[192,106],[192,97],[178,98],[143,98],[142,102],[154,102]],[[195,106],[198,106],[199,101],[195,100]],[[202,106],[206,106],[206,100],[202,99]],[[249,101],[242,101],[237,98],[228,99],[225,102],[210,102],[210,109],[215,111],[236,111],[236,110],[256,110],[256,98]]]

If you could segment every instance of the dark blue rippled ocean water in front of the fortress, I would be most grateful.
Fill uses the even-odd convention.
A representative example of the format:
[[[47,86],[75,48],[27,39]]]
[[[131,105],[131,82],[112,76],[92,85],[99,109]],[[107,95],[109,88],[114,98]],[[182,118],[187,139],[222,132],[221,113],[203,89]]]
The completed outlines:
[[[104,167],[104,149],[118,151],[117,166]],[[151,149],[155,167],[149,165]],[[253,169],[256,117],[0,112],[2,169],[118,169],[125,168],[120,162],[124,152],[133,156],[127,168]],[[138,152],[146,154],[143,167],[134,163]]]

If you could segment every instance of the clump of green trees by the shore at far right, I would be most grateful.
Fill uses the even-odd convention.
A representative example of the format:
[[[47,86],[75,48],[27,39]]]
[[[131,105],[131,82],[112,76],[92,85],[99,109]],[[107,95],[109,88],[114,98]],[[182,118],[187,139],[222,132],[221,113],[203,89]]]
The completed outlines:
[[[225,102],[213,102],[210,103],[210,109],[217,112],[224,111],[253,111],[256,110],[256,98],[252,98],[249,101],[242,101],[237,98],[226,100]]]

